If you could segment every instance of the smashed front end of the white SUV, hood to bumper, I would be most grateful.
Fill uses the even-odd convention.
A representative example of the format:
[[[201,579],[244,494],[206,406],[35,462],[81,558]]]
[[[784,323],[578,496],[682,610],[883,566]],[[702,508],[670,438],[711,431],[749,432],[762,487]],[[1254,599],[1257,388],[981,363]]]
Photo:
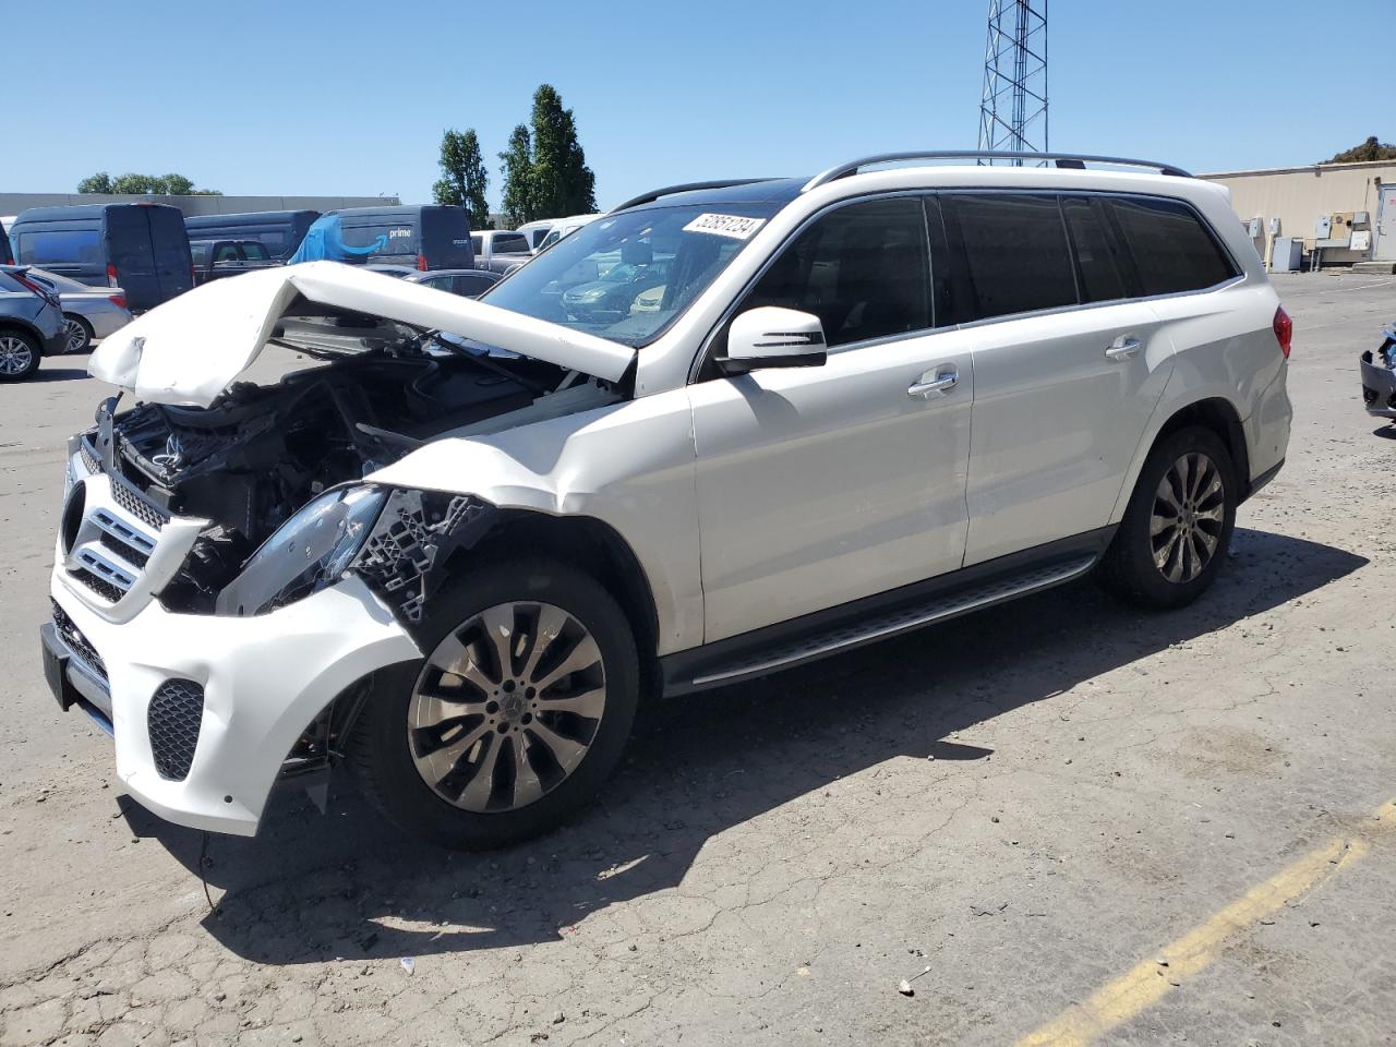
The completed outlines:
[[[385,276],[343,282],[364,278],[396,295]],[[345,292],[335,274],[318,279],[324,297]],[[254,831],[271,782],[329,766],[377,676],[420,656],[447,563],[500,512],[378,473],[429,443],[625,398],[617,360],[600,360],[617,376],[603,378],[568,367],[557,339],[522,353],[539,321],[511,331],[486,315],[489,342],[444,335],[426,321],[462,329],[482,307],[454,315],[456,302],[437,300],[454,296],[401,286],[409,300],[392,315],[278,295],[282,314],[248,322],[286,363],[311,366],[216,394],[165,377],[169,395],[151,394],[151,376],[169,374],[169,332],[138,328],[106,371],[142,402],[120,410],[110,396],[70,441],[45,664],[60,705],[114,726],[121,780],[166,818]],[[166,694],[181,702],[179,730]]]

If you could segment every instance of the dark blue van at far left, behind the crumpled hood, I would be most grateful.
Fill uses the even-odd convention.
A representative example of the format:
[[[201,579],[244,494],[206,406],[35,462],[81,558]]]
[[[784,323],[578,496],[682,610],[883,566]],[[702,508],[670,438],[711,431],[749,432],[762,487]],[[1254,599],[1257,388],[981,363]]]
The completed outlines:
[[[21,265],[92,288],[121,288],[133,313],[194,286],[184,215],[168,204],[35,207],[10,229]]]

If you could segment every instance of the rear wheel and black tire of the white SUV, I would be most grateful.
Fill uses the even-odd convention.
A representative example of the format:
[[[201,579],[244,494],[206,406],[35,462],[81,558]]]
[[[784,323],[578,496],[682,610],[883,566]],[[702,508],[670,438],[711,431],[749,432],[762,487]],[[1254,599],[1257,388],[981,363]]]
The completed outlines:
[[[1160,440],[1101,558],[1101,582],[1139,607],[1192,603],[1231,544],[1240,487],[1226,444],[1191,426]]]

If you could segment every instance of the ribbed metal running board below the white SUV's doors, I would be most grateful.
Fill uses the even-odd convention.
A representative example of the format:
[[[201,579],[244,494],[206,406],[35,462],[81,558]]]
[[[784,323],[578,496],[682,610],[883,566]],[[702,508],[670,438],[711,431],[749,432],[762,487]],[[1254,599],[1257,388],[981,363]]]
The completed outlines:
[[[670,694],[683,694],[733,684],[738,680],[790,669],[803,662],[812,662],[840,651],[863,646],[864,644],[888,639],[889,637],[910,632],[923,625],[956,618],[983,607],[991,607],[995,603],[1026,596],[1039,589],[1050,589],[1054,585],[1074,581],[1089,572],[1096,565],[1097,558],[1097,553],[1087,553],[1069,560],[1057,560],[1055,563],[1029,571],[1000,575],[979,585],[941,593],[923,603],[874,614],[852,625],[811,632],[797,641],[769,646],[759,652],[750,652],[744,659],[738,658],[726,664],[709,664],[705,667],[708,671],[694,676],[688,683],[671,680],[670,687],[666,690]]]

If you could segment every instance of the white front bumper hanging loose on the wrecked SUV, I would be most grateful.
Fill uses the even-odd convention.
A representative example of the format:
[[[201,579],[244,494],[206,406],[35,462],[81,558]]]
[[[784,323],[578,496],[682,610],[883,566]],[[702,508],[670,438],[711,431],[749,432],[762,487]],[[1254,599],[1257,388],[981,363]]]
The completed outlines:
[[[45,655],[46,673],[60,705],[68,697],[70,705],[77,699],[102,712],[105,697],[117,778],[144,807],[195,829],[255,833],[286,754],[315,716],[369,673],[420,658],[392,611],[357,578],[242,618],[174,614],[151,599],[113,621],[61,564],[50,595],[56,617],[66,616],[73,631],[45,628],[43,646],[53,652]],[[169,730],[152,715],[152,698],[170,681],[202,694],[179,780],[152,748],[152,734]]]

